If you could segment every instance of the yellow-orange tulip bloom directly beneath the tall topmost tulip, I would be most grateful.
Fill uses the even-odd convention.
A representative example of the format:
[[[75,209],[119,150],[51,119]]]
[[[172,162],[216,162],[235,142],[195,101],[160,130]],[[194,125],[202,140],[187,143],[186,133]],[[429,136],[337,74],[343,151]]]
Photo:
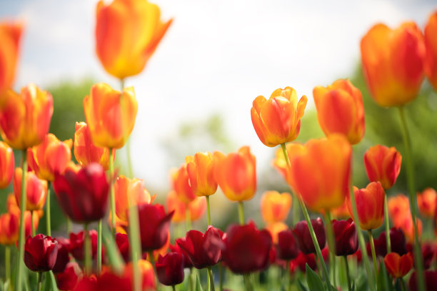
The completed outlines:
[[[134,88],[124,88],[120,93],[105,83],[98,83],[85,96],[84,111],[94,145],[121,148],[134,129],[138,111]]]

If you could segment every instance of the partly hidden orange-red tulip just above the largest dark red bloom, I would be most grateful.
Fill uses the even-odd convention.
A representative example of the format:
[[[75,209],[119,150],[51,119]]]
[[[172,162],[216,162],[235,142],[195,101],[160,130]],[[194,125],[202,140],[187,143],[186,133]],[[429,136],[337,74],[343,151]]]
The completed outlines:
[[[112,154],[115,158],[115,149],[112,150]],[[90,163],[99,163],[104,170],[109,170],[109,148],[94,146],[89,127],[84,122],[76,122],[74,158],[82,167]]]

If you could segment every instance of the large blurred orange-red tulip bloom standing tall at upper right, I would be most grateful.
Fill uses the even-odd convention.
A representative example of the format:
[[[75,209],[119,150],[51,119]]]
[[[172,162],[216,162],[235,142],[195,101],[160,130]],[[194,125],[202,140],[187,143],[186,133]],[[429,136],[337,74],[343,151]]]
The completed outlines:
[[[379,106],[401,106],[416,98],[423,81],[425,44],[413,22],[397,29],[376,24],[361,39],[368,88]]]

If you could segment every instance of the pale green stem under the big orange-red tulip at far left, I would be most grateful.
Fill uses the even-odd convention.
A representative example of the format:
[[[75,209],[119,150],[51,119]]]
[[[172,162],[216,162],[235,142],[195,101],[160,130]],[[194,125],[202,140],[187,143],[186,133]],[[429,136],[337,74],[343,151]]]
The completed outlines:
[[[26,172],[27,172],[27,161],[26,161],[26,150],[21,153],[22,159],[22,170],[23,175],[21,176],[21,203],[20,203],[20,234],[19,234],[19,256],[18,260],[18,274],[15,277],[15,288],[16,291],[21,291],[23,287],[23,262],[24,262],[24,213],[26,211]],[[31,225],[34,225],[33,218],[31,218]]]

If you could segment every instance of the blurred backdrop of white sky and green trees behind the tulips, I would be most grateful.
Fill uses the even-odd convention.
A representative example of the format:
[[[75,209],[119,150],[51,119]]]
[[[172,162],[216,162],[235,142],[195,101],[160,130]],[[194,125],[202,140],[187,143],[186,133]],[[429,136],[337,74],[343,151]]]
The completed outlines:
[[[108,2],[108,1],[106,1]],[[134,175],[163,202],[171,188],[169,170],[197,151],[225,153],[248,145],[257,158],[258,192],[248,203],[248,218],[261,222],[264,190],[288,190],[271,166],[275,150],[258,140],[251,103],[258,95],[291,86],[308,97],[298,141],[323,136],[313,106],[314,86],[350,78],[363,93],[366,135],[354,146],[353,183],[368,183],[363,153],[376,143],[403,151],[398,113],[371,100],[361,73],[359,44],[366,31],[383,22],[416,21],[423,29],[436,1],[153,1],[161,19],[174,18],[145,70],[127,78],[139,111],[131,135]],[[119,89],[95,53],[97,1],[0,1],[0,19],[19,19],[25,29],[15,89],[36,83],[54,97],[50,131],[73,138],[74,123],[84,121],[82,101],[93,83]],[[423,83],[421,95],[406,106],[413,134],[418,190],[437,188],[437,94]],[[126,152],[116,165],[126,173]],[[4,190],[1,200],[6,199]],[[389,195],[406,192],[404,171]],[[61,215],[52,203],[52,211]],[[213,221],[234,220],[236,205],[221,193],[211,197]],[[4,203],[0,210],[5,209]],[[231,215],[215,208],[227,208]],[[235,209],[234,209],[235,208]],[[206,219],[206,218],[205,218]],[[59,226],[63,220],[54,220]],[[41,230],[44,223],[40,223]],[[204,223],[202,223],[204,225]]]

